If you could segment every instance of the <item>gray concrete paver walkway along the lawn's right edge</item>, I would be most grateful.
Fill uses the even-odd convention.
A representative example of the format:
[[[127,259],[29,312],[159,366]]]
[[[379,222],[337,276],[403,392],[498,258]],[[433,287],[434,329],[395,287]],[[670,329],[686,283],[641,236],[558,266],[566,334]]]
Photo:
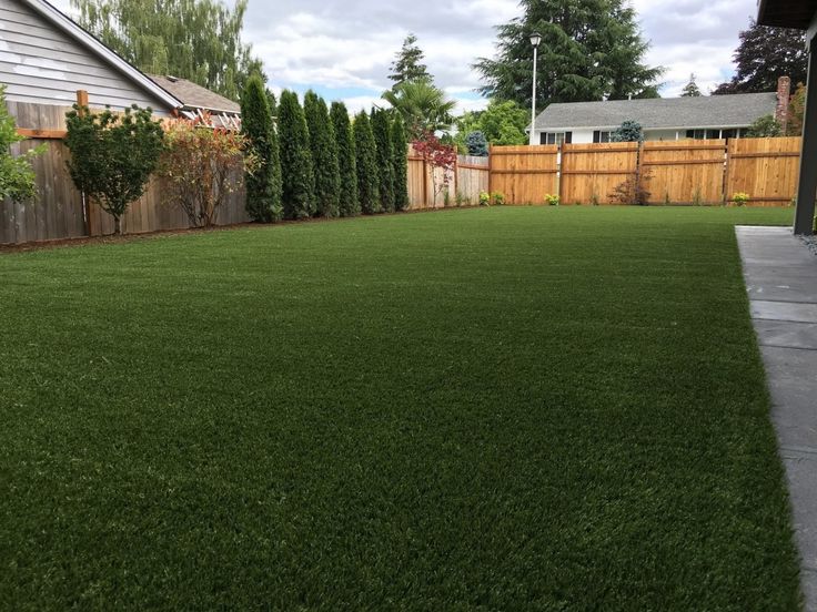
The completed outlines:
[[[817,612],[817,257],[789,228],[736,232],[791,493],[806,610]]]

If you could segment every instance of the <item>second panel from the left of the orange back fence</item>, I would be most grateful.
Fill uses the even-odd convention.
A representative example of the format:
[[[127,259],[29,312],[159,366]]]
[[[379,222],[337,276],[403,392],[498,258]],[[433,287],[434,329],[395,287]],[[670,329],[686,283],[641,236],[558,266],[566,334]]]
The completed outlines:
[[[615,188],[635,176],[638,143],[562,146],[559,196],[564,204],[613,204]]]

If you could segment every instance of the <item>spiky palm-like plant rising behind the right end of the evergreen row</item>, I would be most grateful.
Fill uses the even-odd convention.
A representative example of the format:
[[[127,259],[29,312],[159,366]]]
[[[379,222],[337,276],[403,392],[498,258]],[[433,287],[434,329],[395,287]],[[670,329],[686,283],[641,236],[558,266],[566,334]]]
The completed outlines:
[[[456,102],[428,80],[406,81],[386,91],[383,99],[403,115],[412,136],[446,130],[453,123]]]

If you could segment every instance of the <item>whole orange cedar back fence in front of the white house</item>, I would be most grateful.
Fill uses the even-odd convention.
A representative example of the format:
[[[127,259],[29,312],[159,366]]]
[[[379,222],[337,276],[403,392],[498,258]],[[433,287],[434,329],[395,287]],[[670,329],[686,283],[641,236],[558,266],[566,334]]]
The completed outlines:
[[[800,139],[491,147],[490,191],[508,204],[615,204],[614,192],[638,181],[649,204],[717,205],[737,192],[749,205],[790,204],[797,190]]]

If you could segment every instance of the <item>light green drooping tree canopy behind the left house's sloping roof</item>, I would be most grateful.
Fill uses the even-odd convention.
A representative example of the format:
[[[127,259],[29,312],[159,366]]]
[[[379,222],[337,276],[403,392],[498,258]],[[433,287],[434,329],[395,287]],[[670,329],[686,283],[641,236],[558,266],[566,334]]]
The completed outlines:
[[[261,60],[241,40],[248,0],[71,0],[79,23],[142,72],[238,100]]]

